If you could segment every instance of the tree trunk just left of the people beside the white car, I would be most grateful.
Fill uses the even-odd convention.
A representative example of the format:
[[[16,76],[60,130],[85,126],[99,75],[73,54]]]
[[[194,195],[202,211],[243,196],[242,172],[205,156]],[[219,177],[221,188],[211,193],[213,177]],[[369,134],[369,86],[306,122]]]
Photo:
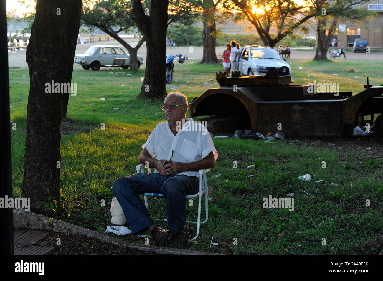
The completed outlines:
[[[204,11],[204,14],[207,12]],[[204,22],[203,32],[203,57],[200,64],[218,64],[219,61],[216,56],[215,44],[216,44],[216,23],[215,21]]]

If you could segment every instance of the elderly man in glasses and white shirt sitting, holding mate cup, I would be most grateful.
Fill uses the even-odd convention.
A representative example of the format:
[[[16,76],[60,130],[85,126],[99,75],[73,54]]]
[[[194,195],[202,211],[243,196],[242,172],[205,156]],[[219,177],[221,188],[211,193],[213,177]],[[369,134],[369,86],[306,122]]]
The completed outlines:
[[[206,127],[186,118],[188,100],[185,95],[169,93],[162,110],[167,122],[155,126],[142,145],[144,150],[139,157],[140,163],[149,163],[149,167],[155,168],[154,173],[137,173],[113,183],[113,193],[133,234],[149,230],[159,246],[168,240],[185,243],[190,234],[186,223],[186,196],[199,190],[198,170],[214,168],[218,157]],[[172,152],[171,162],[163,165]],[[154,224],[148,209],[138,198],[146,192],[164,194],[169,230]]]

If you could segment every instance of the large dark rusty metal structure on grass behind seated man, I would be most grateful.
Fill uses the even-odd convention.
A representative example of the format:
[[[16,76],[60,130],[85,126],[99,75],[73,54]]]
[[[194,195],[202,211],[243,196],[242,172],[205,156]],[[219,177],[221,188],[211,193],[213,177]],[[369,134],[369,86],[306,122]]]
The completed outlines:
[[[208,89],[189,105],[189,116],[201,116],[199,120],[207,121],[209,131],[249,129],[282,131],[286,137],[343,137],[351,136],[355,126],[369,123],[372,130],[383,134],[383,114],[373,120],[374,114],[383,113],[383,85],[372,87],[368,78],[365,90],[356,95],[317,93],[318,84],[292,84],[283,67],[271,67],[265,76],[232,72],[228,77],[219,72],[216,79],[221,87]],[[371,118],[365,119],[366,115]]]

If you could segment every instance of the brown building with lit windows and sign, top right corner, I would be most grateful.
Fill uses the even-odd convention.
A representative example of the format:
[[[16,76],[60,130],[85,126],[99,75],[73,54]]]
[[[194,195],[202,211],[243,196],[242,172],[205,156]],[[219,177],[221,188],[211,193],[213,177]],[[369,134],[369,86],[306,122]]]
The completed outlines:
[[[340,47],[351,47],[356,38],[367,39],[371,49],[383,48],[383,0],[372,0],[370,3],[360,5],[369,11],[374,12],[374,18],[368,19],[367,23],[362,21],[338,21],[336,32],[332,37],[340,41]],[[327,28],[330,23],[327,23]],[[326,29],[326,35],[328,29]],[[332,38],[331,38],[332,39]],[[316,41],[315,46],[318,45]]]

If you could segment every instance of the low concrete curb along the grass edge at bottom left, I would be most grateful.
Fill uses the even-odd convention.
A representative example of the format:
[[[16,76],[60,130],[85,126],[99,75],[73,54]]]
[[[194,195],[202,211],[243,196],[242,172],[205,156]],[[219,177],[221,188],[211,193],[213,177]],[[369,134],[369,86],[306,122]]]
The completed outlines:
[[[111,243],[120,247],[134,248],[137,250],[155,252],[163,255],[217,255],[215,253],[129,243],[122,239],[100,234],[94,230],[86,229],[85,227],[79,225],[68,224],[58,219],[47,217],[42,214],[35,214],[30,211],[26,212],[22,208],[17,208],[13,211],[13,228],[16,229],[20,227],[27,227],[33,230],[48,230],[65,234],[86,235],[86,237],[90,239],[97,239],[101,242]]]

